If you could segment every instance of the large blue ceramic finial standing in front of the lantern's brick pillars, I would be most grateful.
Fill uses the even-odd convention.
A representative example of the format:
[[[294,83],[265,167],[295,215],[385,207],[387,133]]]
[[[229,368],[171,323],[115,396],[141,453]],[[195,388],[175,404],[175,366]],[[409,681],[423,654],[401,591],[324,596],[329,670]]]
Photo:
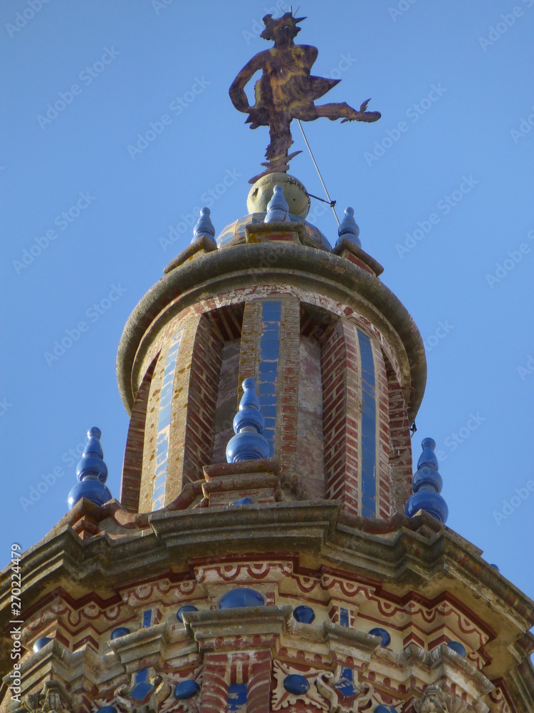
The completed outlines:
[[[226,446],[226,460],[229,463],[256,461],[268,458],[271,449],[263,434],[265,421],[260,412],[260,402],[256,396],[256,381],[245,379],[239,411],[234,417],[234,432]]]

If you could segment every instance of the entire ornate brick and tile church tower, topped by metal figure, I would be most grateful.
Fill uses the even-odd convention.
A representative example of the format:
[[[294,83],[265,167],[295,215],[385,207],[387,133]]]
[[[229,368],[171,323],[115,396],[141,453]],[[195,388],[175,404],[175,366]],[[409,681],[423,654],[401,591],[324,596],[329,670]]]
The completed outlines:
[[[298,21],[266,39],[293,53]],[[421,335],[352,208],[323,235],[287,173],[307,77],[245,215],[203,209],[126,324],[120,497],[90,429],[23,610],[4,570],[0,713],[534,712],[534,604],[446,527],[431,438],[412,464]]]

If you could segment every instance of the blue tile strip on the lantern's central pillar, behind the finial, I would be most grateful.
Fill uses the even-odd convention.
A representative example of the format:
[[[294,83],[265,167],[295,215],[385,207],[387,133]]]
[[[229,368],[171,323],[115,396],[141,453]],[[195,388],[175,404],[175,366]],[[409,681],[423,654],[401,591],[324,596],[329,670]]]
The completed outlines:
[[[261,312],[260,374],[258,379],[258,399],[265,419],[263,436],[274,455],[274,433],[276,426],[276,384],[278,379],[278,355],[280,352],[281,302],[263,302]]]

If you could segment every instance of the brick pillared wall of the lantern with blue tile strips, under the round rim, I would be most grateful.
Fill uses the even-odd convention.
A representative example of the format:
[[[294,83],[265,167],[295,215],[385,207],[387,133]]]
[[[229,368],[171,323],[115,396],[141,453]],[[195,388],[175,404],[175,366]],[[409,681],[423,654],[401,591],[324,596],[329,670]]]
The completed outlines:
[[[317,309],[308,299],[280,288],[274,299],[273,288],[258,287],[221,295],[216,309],[203,302],[164,329],[132,409],[127,508],[162,508],[199,481],[204,466],[226,461],[249,376],[283,497],[338,500],[370,518],[404,506],[409,421],[384,337],[356,312],[345,316],[344,305]]]

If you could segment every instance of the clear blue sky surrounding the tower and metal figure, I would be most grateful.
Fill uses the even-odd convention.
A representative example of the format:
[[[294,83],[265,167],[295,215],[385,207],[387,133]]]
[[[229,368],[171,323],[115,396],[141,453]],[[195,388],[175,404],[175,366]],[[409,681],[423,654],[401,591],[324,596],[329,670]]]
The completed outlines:
[[[90,426],[119,496],[122,328],[189,243],[195,206],[218,232],[246,214],[268,131],[248,129],[228,89],[270,46],[271,4],[0,6],[4,563],[66,512]],[[433,437],[447,524],[533,596],[534,0],[307,0],[298,14],[313,73],[342,80],[328,101],[382,112],[305,129],[424,338],[415,459]],[[291,173],[323,195],[307,153]],[[322,204],[310,220],[335,242]]]

